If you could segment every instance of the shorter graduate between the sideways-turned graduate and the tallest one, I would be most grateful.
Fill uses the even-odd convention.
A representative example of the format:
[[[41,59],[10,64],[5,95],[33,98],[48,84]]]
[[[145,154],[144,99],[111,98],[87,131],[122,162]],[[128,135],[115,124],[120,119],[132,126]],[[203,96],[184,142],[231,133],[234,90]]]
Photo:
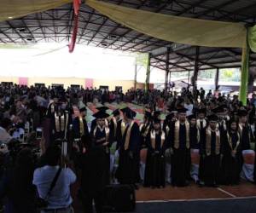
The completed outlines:
[[[148,154],[144,187],[165,187],[166,133],[161,130],[161,123],[158,118],[154,118],[153,127],[147,136]]]

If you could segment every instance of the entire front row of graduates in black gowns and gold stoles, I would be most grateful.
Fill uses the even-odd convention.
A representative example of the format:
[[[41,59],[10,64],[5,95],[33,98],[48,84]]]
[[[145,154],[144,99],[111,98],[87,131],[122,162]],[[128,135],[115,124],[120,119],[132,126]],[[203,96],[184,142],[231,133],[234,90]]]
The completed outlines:
[[[200,150],[201,182],[207,186],[215,186],[220,182],[238,183],[242,164],[241,151],[249,146],[250,134],[246,124],[237,124],[230,119],[218,122],[215,114],[207,120],[203,111],[198,113],[198,119],[190,116],[189,122],[186,119],[186,109],[181,108],[177,112],[177,118],[173,113],[166,116],[163,128],[157,112],[154,113],[153,121],[151,113],[145,112],[145,121],[139,127],[133,120],[136,112],[128,107],[121,110],[123,119],[120,119],[120,112],[116,110],[110,121],[106,113],[108,107],[97,109],[99,111],[93,115],[96,119],[91,124],[90,132],[85,120],[86,108],[79,109],[80,116],[73,119],[73,137],[79,138],[81,144],[90,137],[94,146],[104,149],[106,184],[110,182],[109,149],[113,142],[117,142],[116,149],[119,150],[119,167],[115,175],[122,184],[135,185],[140,181],[140,151],[143,148],[148,149],[144,176],[146,187],[165,186],[166,150],[171,153],[171,179],[174,186],[182,187],[189,183],[191,149]],[[56,115],[54,121],[57,124],[60,121],[56,119]],[[59,126],[55,124],[55,129],[60,130],[61,126],[61,122]]]

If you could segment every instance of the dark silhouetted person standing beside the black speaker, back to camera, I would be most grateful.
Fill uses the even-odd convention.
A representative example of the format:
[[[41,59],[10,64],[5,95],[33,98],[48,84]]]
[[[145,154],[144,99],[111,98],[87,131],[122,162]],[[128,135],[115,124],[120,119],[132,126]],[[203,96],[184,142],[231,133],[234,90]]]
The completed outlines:
[[[82,170],[79,199],[84,212],[93,212],[93,202],[96,213],[102,213],[104,204],[104,189],[106,187],[106,153],[103,147],[92,146],[90,137],[84,143],[85,153],[76,154],[76,164]],[[78,147],[79,150],[79,147]]]

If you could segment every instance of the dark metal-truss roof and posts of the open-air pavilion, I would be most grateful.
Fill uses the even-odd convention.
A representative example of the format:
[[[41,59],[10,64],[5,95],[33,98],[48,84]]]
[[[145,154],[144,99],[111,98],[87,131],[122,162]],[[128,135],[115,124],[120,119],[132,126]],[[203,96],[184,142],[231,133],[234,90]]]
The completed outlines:
[[[40,4],[40,2],[42,3]],[[22,2],[23,5],[20,3],[21,1],[17,0],[11,3],[9,1],[2,1],[1,3],[1,43],[29,44],[63,41],[68,43],[72,39],[76,14],[71,1],[55,0],[35,3],[27,0]],[[170,72],[193,72],[194,77],[192,79],[195,81],[192,84],[195,85],[200,70],[216,69],[215,87],[217,88],[220,68],[241,67],[241,48],[228,47],[232,45],[200,47],[199,45],[159,39],[138,32],[132,27],[127,27],[129,23],[124,24],[121,21],[111,19],[112,17],[106,13],[105,15],[102,14],[99,11],[101,9],[97,10],[94,7],[97,3],[111,3],[128,9],[171,14],[178,17],[235,22],[245,27],[253,26],[256,20],[255,1],[113,0],[81,3],[76,43],[104,49],[148,53],[150,66],[166,71],[166,86],[170,81]],[[37,11],[41,12],[37,13]],[[211,33],[214,37],[214,30]],[[215,33],[225,34],[227,32],[220,30]],[[228,33],[232,34],[233,32]],[[186,37],[186,35],[183,36]],[[218,44],[216,45],[218,46]],[[249,86],[251,86],[255,76],[253,67],[256,66],[256,55],[252,51],[248,66],[250,67]]]

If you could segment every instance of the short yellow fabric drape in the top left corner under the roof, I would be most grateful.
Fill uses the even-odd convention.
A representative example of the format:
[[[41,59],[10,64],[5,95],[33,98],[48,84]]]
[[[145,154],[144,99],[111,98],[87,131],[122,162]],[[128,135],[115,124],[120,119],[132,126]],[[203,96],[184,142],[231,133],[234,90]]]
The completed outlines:
[[[72,0],[0,0],[0,21],[55,9]]]

